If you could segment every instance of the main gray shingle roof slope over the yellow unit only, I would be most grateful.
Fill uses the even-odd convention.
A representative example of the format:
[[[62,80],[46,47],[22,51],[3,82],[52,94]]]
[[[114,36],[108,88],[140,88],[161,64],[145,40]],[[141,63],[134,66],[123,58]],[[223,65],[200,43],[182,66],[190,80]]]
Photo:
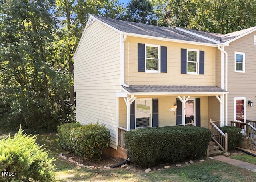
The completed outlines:
[[[118,20],[114,18],[106,18],[103,16],[96,16],[96,15],[93,15],[93,16],[98,20],[101,20],[102,22],[105,22],[108,25],[125,33],[135,33],[135,34],[148,35],[153,37],[162,37],[162,38],[176,39],[176,40],[183,40],[183,41],[215,44],[212,41],[203,39],[201,37],[196,37],[194,35],[190,35],[188,33],[184,33],[182,31],[179,31],[173,28],[146,25],[143,23],[129,22],[129,21]]]

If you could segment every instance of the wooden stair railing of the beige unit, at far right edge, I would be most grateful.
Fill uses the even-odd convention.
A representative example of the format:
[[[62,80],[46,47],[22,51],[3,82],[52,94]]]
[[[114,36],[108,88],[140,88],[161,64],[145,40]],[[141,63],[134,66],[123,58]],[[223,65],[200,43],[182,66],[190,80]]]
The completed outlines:
[[[242,135],[251,139],[254,143],[254,133],[256,133],[256,121],[246,120],[246,123],[240,121],[231,121],[231,126],[235,126],[242,129]]]

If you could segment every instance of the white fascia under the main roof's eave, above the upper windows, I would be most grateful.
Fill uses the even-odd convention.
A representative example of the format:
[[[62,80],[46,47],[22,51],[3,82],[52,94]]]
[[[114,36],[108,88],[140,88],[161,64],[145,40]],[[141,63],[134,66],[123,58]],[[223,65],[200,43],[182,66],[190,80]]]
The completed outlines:
[[[169,42],[187,43],[187,44],[193,44],[193,45],[204,45],[204,46],[210,46],[210,47],[217,47],[217,44],[212,44],[212,43],[184,41],[184,40],[179,40],[179,39],[169,39],[169,38],[164,38],[164,37],[154,37],[154,36],[149,36],[149,35],[140,35],[140,34],[136,34],[136,33],[126,33],[126,32],[124,32],[124,34],[127,35],[127,36],[131,36],[131,37],[140,37],[140,38],[145,38],[145,39],[154,39],[154,40],[160,40],[160,41],[169,41]]]

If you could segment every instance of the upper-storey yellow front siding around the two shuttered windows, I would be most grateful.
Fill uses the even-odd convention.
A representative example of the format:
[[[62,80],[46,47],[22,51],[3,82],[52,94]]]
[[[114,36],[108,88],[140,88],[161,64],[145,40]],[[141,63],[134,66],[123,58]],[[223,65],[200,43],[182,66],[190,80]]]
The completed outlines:
[[[167,47],[167,73],[138,72],[138,43]],[[204,75],[181,74],[181,48],[205,51]],[[215,48],[127,37],[125,41],[125,82],[130,85],[215,85]]]

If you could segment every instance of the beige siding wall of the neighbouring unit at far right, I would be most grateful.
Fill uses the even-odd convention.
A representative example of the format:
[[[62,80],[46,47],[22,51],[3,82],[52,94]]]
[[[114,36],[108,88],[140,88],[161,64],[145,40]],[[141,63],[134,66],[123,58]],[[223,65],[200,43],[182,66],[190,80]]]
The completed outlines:
[[[254,33],[250,33],[225,47],[228,52],[228,121],[234,120],[234,97],[246,97],[246,119],[255,119],[255,106],[249,107],[248,100],[256,104],[256,45]],[[234,72],[234,52],[245,53],[245,72]],[[228,123],[230,124],[230,123]]]

